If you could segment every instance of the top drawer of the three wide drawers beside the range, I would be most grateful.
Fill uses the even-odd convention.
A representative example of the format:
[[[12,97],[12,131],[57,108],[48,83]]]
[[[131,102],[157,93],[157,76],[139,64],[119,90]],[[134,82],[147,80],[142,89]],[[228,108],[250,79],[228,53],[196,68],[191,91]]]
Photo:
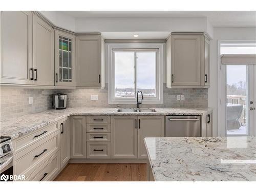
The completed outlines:
[[[15,153],[18,153],[24,150],[24,148],[36,143],[37,141],[46,138],[47,136],[57,131],[58,129],[59,126],[56,122],[51,125],[42,127],[42,129],[32,132],[31,134],[15,139],[13,141]]]

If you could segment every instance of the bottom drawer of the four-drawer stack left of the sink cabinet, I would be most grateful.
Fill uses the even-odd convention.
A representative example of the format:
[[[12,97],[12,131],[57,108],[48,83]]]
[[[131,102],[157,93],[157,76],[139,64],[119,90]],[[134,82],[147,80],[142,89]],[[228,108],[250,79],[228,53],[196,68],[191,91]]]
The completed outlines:
[[[87,158],[88,159],[110,159],[111,142],[88,141]]]

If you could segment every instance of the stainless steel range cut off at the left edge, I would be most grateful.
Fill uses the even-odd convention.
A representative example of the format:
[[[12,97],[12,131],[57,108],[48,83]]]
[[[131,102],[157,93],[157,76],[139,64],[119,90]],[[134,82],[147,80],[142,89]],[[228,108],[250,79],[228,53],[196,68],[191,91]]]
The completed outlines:
[[[13,146],[10,137],[0,137],[0,177],[1,181],[12,181],[13,175]],[[2,177],[5,175],[5,177]],[[6,177],[8,176],[8,177]]]

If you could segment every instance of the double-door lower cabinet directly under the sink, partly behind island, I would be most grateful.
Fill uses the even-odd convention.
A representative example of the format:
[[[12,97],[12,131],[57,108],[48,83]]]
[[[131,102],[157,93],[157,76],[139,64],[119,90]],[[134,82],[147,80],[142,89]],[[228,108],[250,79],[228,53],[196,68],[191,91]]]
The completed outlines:
[[[111,158],[146,159],[145,137],[164,137],[164,116],[112,116]]]

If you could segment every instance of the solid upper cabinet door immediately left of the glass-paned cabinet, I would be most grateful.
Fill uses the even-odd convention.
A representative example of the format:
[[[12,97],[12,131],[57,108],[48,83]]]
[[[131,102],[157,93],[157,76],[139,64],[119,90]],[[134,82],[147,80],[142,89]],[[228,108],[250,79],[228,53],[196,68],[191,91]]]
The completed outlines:
[[[34,84],[54,86],[54,30],[33,14]]]

